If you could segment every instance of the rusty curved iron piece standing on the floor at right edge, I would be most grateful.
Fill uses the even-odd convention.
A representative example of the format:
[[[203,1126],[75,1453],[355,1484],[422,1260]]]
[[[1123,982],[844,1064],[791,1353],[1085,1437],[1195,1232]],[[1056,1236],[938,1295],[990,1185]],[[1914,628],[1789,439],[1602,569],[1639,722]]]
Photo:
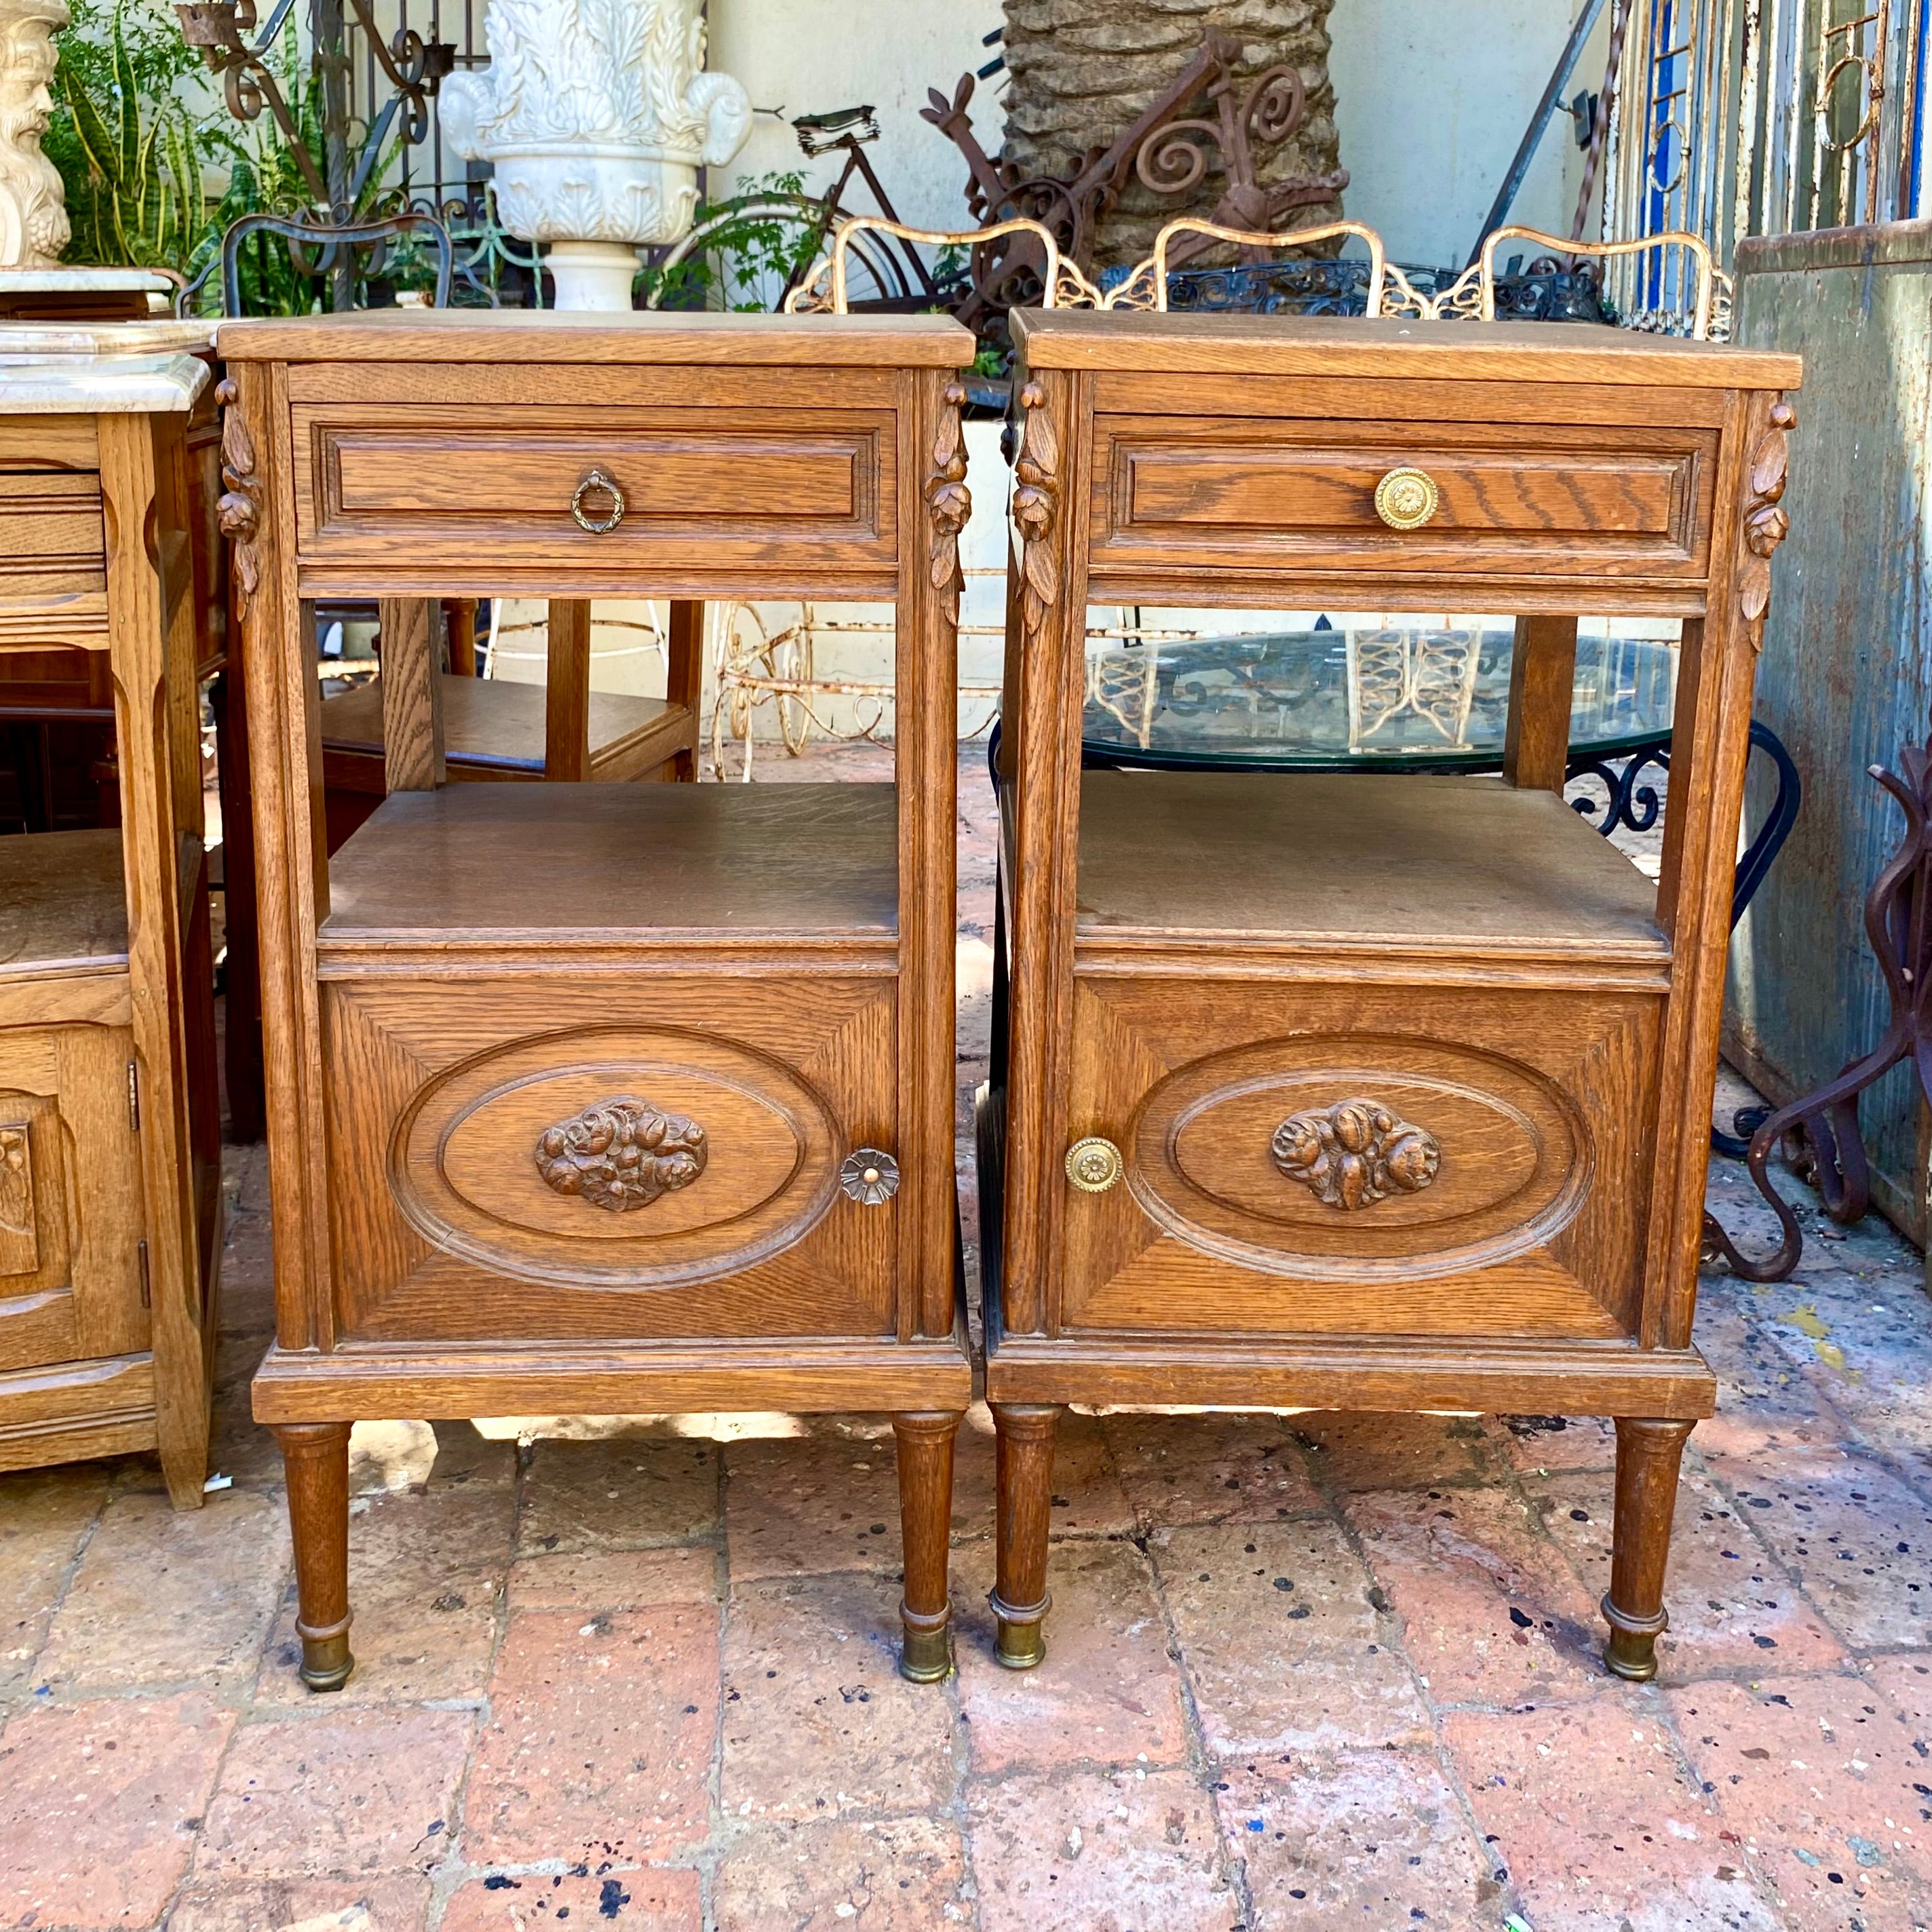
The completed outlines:
[[[1824,1211],[1851,1223],[1870,1206],[1870,1169],[1859,1138],[1859,1095],[1901,1061],[1911,1061],[1918,1086],[1932,1097],[1932,740],[1899,753],[1903,777],[1872,765],[1876,779],[1905,811],[1905,837],[1872,881],[1864,900],[1864,935],[1891,997],[1891,1020],[1870,1053],[1855,1059],[1835,1080],[1766,1115],[1745,1155],[1750,1179],[1777,1215],[1781,1231],[1772,1254],[1752,1260],[1733,1246],[1718,1223],[1704,1217],[1706,1246],[1723,1256],[1747,1281],[1783,1281],[1799,1265],[1804,1236],[1789,1202],[1772,1186],[1766,1167],[1783,1142],[1785,1159],[1808,1169],[1824,1198]]]

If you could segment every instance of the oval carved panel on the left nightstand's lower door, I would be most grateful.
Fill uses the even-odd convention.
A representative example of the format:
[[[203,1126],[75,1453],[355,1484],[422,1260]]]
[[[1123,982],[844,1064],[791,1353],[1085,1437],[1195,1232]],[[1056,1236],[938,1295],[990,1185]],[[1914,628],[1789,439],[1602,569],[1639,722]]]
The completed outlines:
[[[618,1099],[643,1105],[636,1095],[680,1130],[703,1122],[699,1157],[684,1150],[668,1184],[634,1192],[628,1211],[609,1190],[560,1188],[568,1130],[595,1128]],[[825,1101],[767,1055],[672,1028],[593,1028],[495,1047],[423,1086],[396,1124],[390,1188],[417,1233],[485,1267],[670,1287],[804,1235],[833,1202],[840,1151]]]

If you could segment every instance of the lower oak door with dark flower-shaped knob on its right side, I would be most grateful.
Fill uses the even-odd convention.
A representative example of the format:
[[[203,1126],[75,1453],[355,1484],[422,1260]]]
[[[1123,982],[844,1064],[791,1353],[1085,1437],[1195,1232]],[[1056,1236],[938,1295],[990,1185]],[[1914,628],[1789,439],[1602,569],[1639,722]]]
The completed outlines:
[[[647,1018],[628,1018],[639,1012]],[[325,993],[338,1310],[361,1339],[885,1333],[889,980]]]

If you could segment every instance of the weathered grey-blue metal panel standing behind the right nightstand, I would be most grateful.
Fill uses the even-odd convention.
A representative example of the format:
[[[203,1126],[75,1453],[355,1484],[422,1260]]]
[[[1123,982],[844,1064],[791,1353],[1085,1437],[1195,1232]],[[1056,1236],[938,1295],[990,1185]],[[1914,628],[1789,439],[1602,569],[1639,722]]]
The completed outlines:
[[[1868,1049],[1889,1010],[1864,895],[1901,817],[1864,773],[1924,740],[1932,699],[1932,222],[1739,243],[1737,340],[1804,357],[1756,707],[1804,810],[1737,929],[1725,1020],[1727,1057],[1785,1101]],[[1754,773],[1752,819],[1766,792]],[[1874,1202],[1922,1242],[1909,1068],[1866,1092],[1861,1121]]]

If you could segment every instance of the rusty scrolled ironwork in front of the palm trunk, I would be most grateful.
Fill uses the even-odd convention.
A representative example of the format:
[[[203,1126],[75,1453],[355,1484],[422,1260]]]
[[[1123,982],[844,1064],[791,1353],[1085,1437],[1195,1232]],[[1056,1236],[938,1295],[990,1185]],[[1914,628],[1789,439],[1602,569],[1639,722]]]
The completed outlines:
[[[931,122],[966,156],[966,207],[976,226],[1014,218],[1039,222],[1051,230],[1061,255],[1092,274],[1099,222],[1119,203],[1128,178],[1150,193],[1179,203],[1219,162],[1227,185],[1206,216],[1219,228],[1273,230],[1293,209],[1320,207],[1341,197],[1349,185],[1347,168],[1275,185],[1256,182],[1256,149],[1279,147],[1300,129],[1308,118],[1308,93],[1300,73],[1285,64],[1267,68],[1242,85],[1235,73],[1238,58],[1238,41],[1209,31],[1200,52],[1167,91],[1068,176],[1026,174],[1016,162],[995,160],[985,153],[968,114],[974,93],[970,73],[960,75],[951,100],[937,87],[929,89],[931,106],[922,108],[920,118]],[[1204,95],[1208,114],[1190,114]],[[1179,267],[1211,245],[1211,238],[1200,238],[1177,249],[1173,265]],[[1264,247],[1242,251],[1244,261],[1265,255]],[[997,336],[1009,307],[1039,299],[1043,270],[1045,255],[1026,236],[989,251],[983,261],[976,255],[972,294],[954,313],[981,338]]]

